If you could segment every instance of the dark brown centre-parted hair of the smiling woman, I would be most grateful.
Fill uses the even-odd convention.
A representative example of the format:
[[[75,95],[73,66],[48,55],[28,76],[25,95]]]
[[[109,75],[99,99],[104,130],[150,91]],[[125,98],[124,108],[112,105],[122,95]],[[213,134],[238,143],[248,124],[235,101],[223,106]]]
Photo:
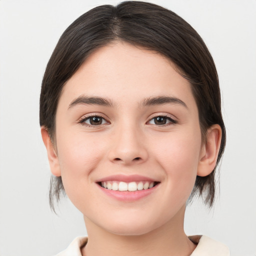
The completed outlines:
[[[198,33],[180,16],[156,4],[124,1],[116,6],[101,5],[78,17],[61,35],[43,76],[40,94],[40,125],[54,143],[55,115],[65,82],[96,49],[124,41],[155,50],[170,59],[191,84],[198,107],[202,139],[212,124],[222,130],[219,162],[225,146],[220,91],[214,61]],[[216,167],[215,167],[216,168]],[[190,198],[205,192],[205,203],[213,204],[215,168],[197,176]],[[61,177],[51,178],[50,206],[64,193]]]

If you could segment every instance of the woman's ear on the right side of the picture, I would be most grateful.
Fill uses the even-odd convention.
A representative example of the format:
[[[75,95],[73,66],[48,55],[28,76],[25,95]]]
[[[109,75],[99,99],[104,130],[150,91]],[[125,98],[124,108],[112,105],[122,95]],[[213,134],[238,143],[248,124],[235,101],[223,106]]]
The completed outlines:
[[[206,176],[214,169],[221,141],[221,128],[214,124],[208,128],[206,141],[202,145],[197,168],[198,176]]]

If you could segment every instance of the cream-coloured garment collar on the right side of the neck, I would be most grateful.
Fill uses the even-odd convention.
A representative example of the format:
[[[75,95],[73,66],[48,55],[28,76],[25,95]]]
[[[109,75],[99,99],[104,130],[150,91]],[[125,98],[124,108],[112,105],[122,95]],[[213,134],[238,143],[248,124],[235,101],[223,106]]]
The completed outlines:
[[[229,249],[225,244],[206,235],[193,235],[188,238],[197,243],[190,256],[230,256]]]

